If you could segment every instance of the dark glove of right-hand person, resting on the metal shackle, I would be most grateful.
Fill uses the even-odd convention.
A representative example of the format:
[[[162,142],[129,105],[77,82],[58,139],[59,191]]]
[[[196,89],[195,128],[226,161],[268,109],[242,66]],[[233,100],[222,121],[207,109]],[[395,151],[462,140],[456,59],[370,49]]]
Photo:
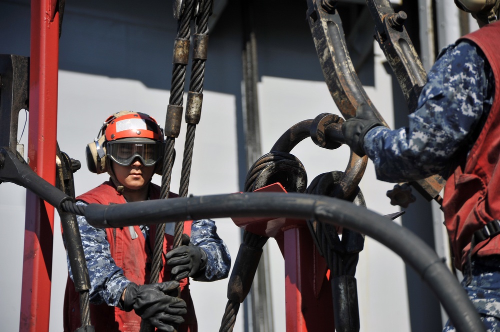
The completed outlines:
[[[364,156],[366,154],[363,147],[364,135],[370,129],[381,125],[382,123],[375,116],[371,107],[365,103],[359,104],[356,109],[356,116],[342,123],[345,144],[358,156]]]

